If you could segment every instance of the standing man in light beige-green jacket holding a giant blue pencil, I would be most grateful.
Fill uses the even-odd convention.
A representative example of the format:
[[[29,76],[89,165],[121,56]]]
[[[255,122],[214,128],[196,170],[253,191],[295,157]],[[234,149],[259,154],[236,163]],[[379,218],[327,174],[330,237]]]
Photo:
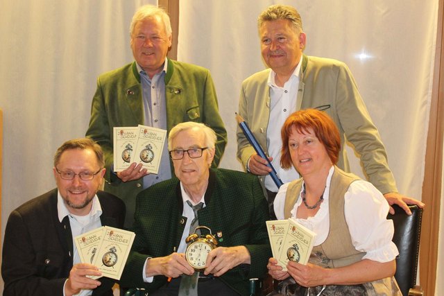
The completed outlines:
[[[408,214],[406,202],[423,207],[422,202],[398,193],[381,137],[348,67],[338,60],[302,53],[307,37],[298,11],[291,6],[270,6],[259,15],[258,28],[262,57],[269,69],[253,74],[242,83],[239,115],[271,157],[282,182],[291,182],[299,175],[294,168],[285,170],[280,166],[280,128],[291,113],[316,108],[334,120],[342,144],[345,139],[352,143],[368,181],[384,194],[389,204],[399,204]],[[240,128],[237,156],[247,171],[259,176],[274,216],[273,200],[278,187],[268,176],[271,168],[266,166],[266,159],[255,153]],[[343,148],[338,166],[350,171]]]

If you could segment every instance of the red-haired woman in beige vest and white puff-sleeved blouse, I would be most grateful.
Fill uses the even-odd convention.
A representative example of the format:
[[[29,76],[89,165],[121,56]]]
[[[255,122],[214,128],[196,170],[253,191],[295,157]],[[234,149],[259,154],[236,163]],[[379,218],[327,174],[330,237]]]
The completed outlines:
[[[375,186],[335,164],[341,150],[338,128],[324,112],[300,110],[282,130],[281,165],[300,174],[280,187],[278,219],[294,218],[316,233],[309,263],[289,261],[287,271],[268,261],[282,280],[274,295],[401,295],[393,275],[399,254],[388,203]]]

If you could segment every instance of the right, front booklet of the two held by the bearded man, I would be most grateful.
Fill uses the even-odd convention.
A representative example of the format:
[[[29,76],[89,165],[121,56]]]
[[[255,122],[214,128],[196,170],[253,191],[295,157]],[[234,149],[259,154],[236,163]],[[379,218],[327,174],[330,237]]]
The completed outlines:
[[[93,264],[99,268],[103,277],[119,280],[130,254],[135,233],[109,226],[104,228],[101,246],[96,251]]]

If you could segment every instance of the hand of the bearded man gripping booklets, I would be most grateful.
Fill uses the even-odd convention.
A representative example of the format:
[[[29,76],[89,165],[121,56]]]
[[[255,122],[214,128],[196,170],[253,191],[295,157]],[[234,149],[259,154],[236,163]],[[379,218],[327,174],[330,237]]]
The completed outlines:
[[[88,263],[78,263],[69,271],[69,278],[65,283],[65,295],[71,296],[80,292],[81,289],[95,289],[101,285],[100,281],[89,279],[87,275],[101,276],[99,268]]]

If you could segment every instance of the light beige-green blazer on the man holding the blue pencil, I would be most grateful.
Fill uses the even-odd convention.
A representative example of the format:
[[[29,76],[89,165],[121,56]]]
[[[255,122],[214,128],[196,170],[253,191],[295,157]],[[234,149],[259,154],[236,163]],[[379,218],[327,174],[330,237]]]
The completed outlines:
[[[244,80],[239,100],[239,114],[255,134],[265,152],[266,130],[270,120],[268,75],[271,69],[258,72]],[[370,119],[359,94],[355,79],[348,67],[338,60],[302,56],[297,110],[316,108],[332,117],[341,134],[341,151],[337,166],[350,171],[345,139],[360,155],[368,181],[382,193],[398,192],[395,178],[388,168],[386,150],[377,128]],[[295,112],[296,110],[293,110]],[[273,143],[271,143],[273,144]],[[246,168],[253,146],[240,128],[237,129],[237,156]],[[264,182],[264,177],[259,177]]]

